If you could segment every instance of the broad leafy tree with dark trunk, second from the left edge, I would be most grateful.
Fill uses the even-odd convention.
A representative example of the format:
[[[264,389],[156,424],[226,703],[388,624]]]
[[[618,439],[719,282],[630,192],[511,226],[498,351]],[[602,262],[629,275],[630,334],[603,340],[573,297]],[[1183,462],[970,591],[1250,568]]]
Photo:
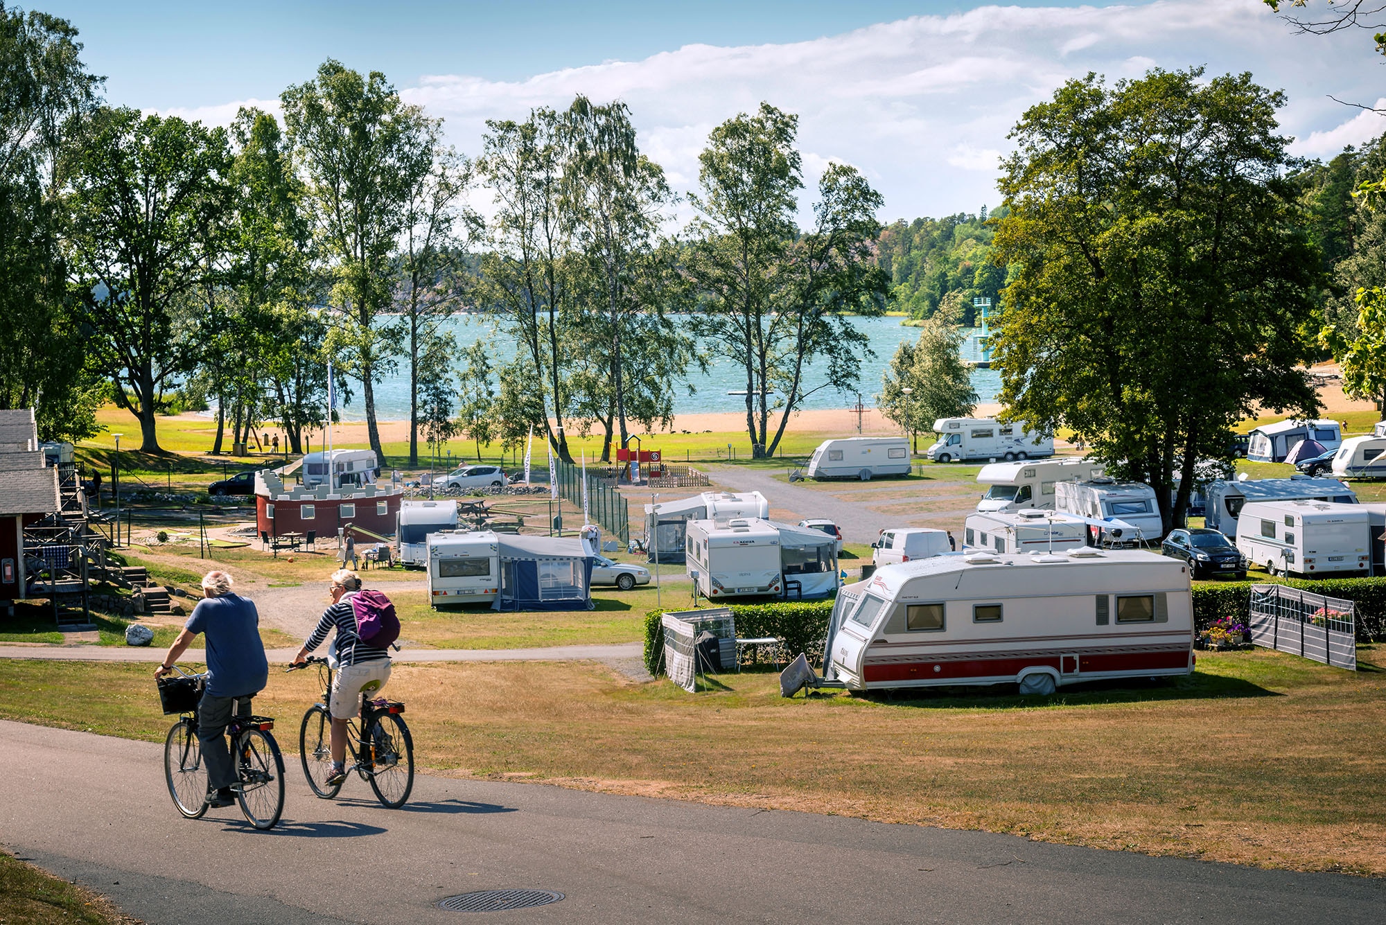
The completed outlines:
[[[159,451],[155,415],[190,366],[175,314],[215,273],[230,170],[223,129],[129,108],[94,112],[73,156],[73,269],[97,361],[140,421],[146,453]]]

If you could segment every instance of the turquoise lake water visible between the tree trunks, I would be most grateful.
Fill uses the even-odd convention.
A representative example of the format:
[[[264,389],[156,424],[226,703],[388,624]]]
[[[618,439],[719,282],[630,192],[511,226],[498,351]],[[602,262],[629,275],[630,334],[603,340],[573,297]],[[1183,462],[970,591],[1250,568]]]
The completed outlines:
[[[895,348],[902,341],[919,336],[919,328],[909,328],[900,323],[900,318],[869,318],[857,317],[851,323],[862,331],[875,356],[862,360],[861,378],[851,393],[841,393],[833,389],[821,389],[808,396],[800,407],[802,408],[845,408],[857,403],[857,392],[861,390],[862,404],[875,407],[876,393],[880,392],[881,375],[895,354]],[[516,343],[511,338],[496,334],[495,323],[486,316],[457,316],[446,321],[446,328],[453,332],[459,346],[471,346],[480,339],[492,342],[492,359],[500,366],[514,357]],[[960,353],[965,359],[977,359],[976,334],[972,334],[963,343]],[[746,372],[730,360],[714,357],[708,371],[694,372],[690,384],[696,389],[687,395],[679,388],[674,399],[675,414],[699,414],[705,411],[740,411],[746,407],[746,397],[742,395],[728,395],[735,389],[746,389]],[[823,382],[823,377],[809,375],[805,390]],[[994,370],[974,370],[972,374],[973,388],[981,402],[995,400],[1001,389],[1001,377]],[[338,408],[342,420],[365,420],[366,411],[360,400],[359,384],[352,389],[355,397],[346,407]],[[391,375],[376,384],[376,414],[383,421],[401,421],[409,418],[409,372],[401,367]]]

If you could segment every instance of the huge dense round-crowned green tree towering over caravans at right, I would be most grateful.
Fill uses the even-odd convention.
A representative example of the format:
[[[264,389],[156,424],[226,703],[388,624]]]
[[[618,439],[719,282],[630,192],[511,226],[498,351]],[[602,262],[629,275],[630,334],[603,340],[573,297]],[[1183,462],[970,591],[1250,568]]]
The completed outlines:
[[[1250,75],[1089,73],[1010,136],[1001,402],[1148,481],[1166,529],[1236,421],[1318,410],[1301,364],[1322,276],[1285,179],[1281,105]]]

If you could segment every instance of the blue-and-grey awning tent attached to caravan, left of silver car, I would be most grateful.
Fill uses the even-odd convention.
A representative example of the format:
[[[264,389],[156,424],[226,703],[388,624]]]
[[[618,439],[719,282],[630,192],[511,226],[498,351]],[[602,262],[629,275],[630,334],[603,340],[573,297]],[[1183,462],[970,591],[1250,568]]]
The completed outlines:
[[[496,611],[590,611],[592,565],[582,540],[496,536],[500,593]]]

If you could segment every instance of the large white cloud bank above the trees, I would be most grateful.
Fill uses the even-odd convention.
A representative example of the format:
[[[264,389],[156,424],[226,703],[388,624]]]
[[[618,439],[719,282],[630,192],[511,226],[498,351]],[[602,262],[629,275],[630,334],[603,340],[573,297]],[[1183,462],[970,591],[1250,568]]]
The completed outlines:
[[[1382,71],[1369,39],[1296,36],[1260,0],[988,6],[811,42],[689,44],[524,80],[431,75],[402,93],[444,116],[450,140],[468,154],[481,150],[486,119],[523,119],[531,107],[564,107],[577,93],[624,100],[642,147],[681,192],[696,186],[708,132],[766,100],[798,114],[801,151],[862,169],[886,198],[881,217],[893,219],[995,206],[1006,133],[1070,78],[1095,71],[1116,80],[1156,65],[1204,64],[1209,75],[1250,71],[1263,86],[1283,87],[1283,130],[1304,138],[1299,154],[1332,154],[1382,130],[1372,129],[1375,116],[1344,123],[1326,98],[1376,97]],[[236,105],[190,112],[229,120]]]

